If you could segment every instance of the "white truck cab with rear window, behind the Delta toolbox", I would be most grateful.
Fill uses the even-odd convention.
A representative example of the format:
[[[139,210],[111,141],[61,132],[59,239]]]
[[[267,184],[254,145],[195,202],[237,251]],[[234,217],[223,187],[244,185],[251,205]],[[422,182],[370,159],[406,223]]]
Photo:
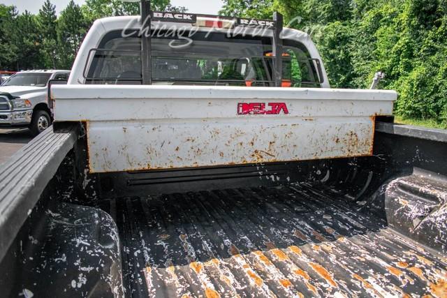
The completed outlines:
[[[152,84],[274,86],[271,26],[246,26],[244,19],[184,15],[193,17],[190,22],[178,23],[166,15],[152,16]],[[142,84],[140,52],[145,34],[140,17],[101,19],[91,32],[80,52],[89,50],[77,57],[69,84]],[[330,87],[310,37],[287,28],[282,35],[282,86]]]

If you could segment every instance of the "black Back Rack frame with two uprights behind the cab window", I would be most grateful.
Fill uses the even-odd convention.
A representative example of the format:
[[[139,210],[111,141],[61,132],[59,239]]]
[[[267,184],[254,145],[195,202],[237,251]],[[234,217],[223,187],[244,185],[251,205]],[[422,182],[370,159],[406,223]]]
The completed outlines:
[[[218,15],[197,15],[192,13],[159,12],[151,10],[150,0],[141,0],[141,29],[142,32],[150,32],[152,21],[182,22],[197,24],[198,20],[204,22],[204,27],[231,28],[256,27],[273,30],[273,71],[272,79],[275,87],[282,84],[282,40],[280,38],[283,29],[283,16],[275,12],[273,20],[255,20],[239,17],[221,17]],[[148,35],[148,36],[147,36]],[[152,84],[152,47],[151,34],[142,34],[142,84]]]

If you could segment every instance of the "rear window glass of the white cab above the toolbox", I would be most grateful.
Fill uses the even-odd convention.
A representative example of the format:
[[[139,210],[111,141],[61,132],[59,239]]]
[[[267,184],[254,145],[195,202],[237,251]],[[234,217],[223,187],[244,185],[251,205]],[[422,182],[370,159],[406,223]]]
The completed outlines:
[[[174,36],[173,36],[174,35]],[[272,87],[272,39],[196,32],[152,37],[152,84]],[[141,84],[141,39],[105,35],[89,52],[86,84]],[[284,40],[283,87],[321,87],[318,64],[306,47]]]

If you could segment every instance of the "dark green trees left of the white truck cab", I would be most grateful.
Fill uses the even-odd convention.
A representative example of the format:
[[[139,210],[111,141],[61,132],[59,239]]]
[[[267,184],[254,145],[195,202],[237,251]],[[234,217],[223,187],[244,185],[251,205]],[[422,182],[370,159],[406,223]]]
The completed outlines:
[[[153,0],[152,9],[186,11],[170,0]],[[140,15],[140,4],[87,0],[79,6],[71,0],[59,16],[51,0],[36,15],[0,4],[0,70],[70,69],[94,20],[117,15]]]

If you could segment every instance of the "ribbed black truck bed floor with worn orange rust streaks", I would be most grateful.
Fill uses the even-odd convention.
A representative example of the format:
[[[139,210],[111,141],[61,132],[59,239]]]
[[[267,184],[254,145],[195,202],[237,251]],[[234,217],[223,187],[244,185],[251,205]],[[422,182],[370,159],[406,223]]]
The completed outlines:
[[[104,209],[119,228],[129,297],[447,295],[444,256],[337,197],[300,184]]]

